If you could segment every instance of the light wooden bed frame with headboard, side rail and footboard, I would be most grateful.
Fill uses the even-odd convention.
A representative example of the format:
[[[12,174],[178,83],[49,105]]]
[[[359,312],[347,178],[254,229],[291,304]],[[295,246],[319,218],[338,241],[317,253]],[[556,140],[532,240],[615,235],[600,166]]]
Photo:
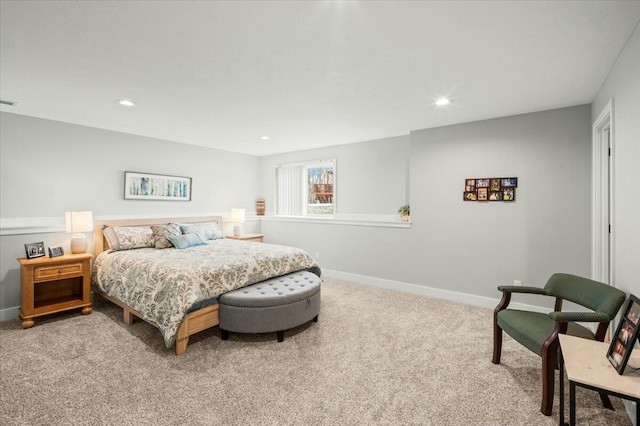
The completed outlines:
[[[99,220],[96,221],[94,227],[94,240],[93,240],[93,255],[94,258],[100,253],[109,248],[109,244],[102,233],[103,226],[145,226],[145,225],[161,225],[166,223],[198,223],[198,222],[218,222],[220,229],[222,230],[222,217],[221,216],[200,216],[200,217],[171,217],[171,218],[151,218],[151,219],[115,219],[115,220]],[[124,322],[126,324],[133,324],[134,316],[141,318],[142,315],[131,309],[125,303],[118,299],[115,299],[105,293],[99,288],[93,287],[94,295],[98,295],[116,305],[120,306],[124,312]],[[146,320],[145,320],[146,321]],[[157,327],[151,321],[147,321],[149,324]],[[184,321],[178,329],[178,335],[176,337],[176,355],[182,355],[187,350],[187,343],[189,342],[189,336],[199,333],[207,328],[218,325],[218,304],[205,306],[204,308],[190,312],[185,317]]]

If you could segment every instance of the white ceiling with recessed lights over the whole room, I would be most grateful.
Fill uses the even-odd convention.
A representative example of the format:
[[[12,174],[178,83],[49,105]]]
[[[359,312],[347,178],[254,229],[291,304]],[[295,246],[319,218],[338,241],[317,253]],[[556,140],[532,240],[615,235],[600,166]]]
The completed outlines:
[[[2,111],[263,156],[590,103],[640,1],[2,0],[0,20]]]

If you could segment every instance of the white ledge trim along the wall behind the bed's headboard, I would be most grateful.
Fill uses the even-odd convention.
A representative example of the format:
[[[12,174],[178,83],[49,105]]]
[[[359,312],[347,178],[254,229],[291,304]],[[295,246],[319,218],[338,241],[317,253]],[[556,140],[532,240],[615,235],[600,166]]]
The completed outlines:
[[[225,216],[226,215],[226,216]],[[223,216],[224,221],[229,220],[229,213],[187,213],[172,214],[172,217],[193,217],[193,216]],[[114,220],[114,219],[146,219],[167,217],[167,214],[137,214],[137,215],[111,215],[96,216],[94,220]],[[261,220],[261,216],[256,216],[255,212],[248,212],[245,222]],[[60,217],[10,217],[0,218],[0,236],[5,235],[26,235],[26,234],[49,234],[56,232],[66,232],[65,218]]]

